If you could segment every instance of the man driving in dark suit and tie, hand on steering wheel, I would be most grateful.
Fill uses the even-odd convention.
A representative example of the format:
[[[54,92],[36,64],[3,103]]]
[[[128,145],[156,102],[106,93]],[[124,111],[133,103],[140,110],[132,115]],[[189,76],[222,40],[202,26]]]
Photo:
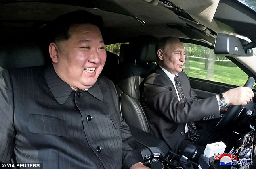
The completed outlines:
[[[199,132],[194,122],[220,118],[220,111],[229,105],[246,105],[254,96],[252,89],[238,87],[199,100],[182,71],[185,62],[183,44],[177,38],[164,37],[157,43],[156,52],[158,65],[141,85],[141,101],[149,126],[174,152],[179,153],[185,144],[195,144],[200,155],[204,147],[197,144],[205,146],[214,140],[205,135],[212,134],[209,128],[202,134],[204,130]]]

